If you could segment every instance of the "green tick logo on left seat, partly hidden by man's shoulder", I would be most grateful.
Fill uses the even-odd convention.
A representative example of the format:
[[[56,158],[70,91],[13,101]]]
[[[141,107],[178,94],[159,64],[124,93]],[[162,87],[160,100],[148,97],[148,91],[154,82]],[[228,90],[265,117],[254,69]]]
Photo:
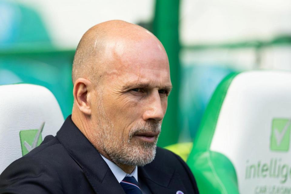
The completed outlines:
[[[39,129],[29,129],[19,132],[22,156],[39,146],[42,142],[42,129],[45,123],[42,123]]]

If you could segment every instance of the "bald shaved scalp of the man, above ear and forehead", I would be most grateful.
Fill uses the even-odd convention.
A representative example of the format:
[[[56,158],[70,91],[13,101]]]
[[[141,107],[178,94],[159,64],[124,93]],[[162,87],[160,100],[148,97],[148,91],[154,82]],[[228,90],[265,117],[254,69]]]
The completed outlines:
[[[72,81],[78,78],[89,79],[98,83],[111,60],[119,57],[124,49],[136,50],[132,44],[153,41],[163,51],[159,40],[148,30],[121,20],[112,20],[97,24],[82,36],[75,52]],[[166,53],[166,52],[165,52]]]

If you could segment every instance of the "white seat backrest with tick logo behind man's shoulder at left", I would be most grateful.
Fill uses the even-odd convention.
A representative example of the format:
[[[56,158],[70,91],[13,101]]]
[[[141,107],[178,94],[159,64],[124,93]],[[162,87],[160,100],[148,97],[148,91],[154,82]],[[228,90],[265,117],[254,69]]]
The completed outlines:
[[[0,174],[46,135],[56,135],[63,122],[57,100],[45,87],[0,85]]]

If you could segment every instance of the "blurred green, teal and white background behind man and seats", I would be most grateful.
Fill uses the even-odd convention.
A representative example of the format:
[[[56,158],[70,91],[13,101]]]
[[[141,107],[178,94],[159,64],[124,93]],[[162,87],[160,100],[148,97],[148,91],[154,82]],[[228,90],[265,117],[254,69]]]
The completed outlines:
[[[174,88],[159,146],[192,141],[229,73],[291,70],[290,0],[0,0],[0,85],[43,85],[66,118],[75,48],[112,19],[147,28],[168,53]]]

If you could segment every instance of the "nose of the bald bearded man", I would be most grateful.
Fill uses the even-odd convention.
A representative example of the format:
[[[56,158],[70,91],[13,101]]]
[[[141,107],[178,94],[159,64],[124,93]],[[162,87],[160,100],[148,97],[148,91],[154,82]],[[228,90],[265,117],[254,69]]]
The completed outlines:
[[[143,120],[154,119],[159,122],[164,118],[164,109],[158,91],[152,92],[146,101],[145,112],[143,113]]]

